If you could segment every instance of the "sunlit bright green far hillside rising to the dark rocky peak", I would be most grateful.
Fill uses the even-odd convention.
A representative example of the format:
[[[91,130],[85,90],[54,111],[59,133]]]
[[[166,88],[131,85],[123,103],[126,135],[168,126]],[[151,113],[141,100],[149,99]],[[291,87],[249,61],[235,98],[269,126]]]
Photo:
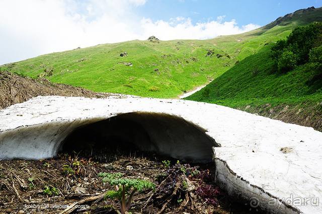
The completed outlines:
[[[6,64],[0,70],[100,92],[177,97],[216,79],[263,47],[286,38],[294,26],[314,20],[322,20],[320,9],[286,15],[240,35],[202,41],[146,40],[97,45]],[[121,57],[122,52],[128,56]]]

